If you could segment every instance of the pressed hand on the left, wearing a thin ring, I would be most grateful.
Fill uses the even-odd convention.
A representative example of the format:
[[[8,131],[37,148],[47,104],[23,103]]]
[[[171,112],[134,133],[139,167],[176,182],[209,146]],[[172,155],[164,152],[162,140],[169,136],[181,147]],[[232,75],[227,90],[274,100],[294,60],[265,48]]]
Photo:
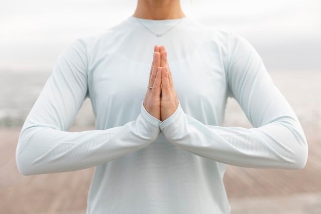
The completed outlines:
[[[160,67],[160,49],[157,45],[154,47],[154,57],[152,67],[149,73],[149,83],[144,99],[144,107],[146,111],[160,120],[160,96],[162,92],[162,72]]]

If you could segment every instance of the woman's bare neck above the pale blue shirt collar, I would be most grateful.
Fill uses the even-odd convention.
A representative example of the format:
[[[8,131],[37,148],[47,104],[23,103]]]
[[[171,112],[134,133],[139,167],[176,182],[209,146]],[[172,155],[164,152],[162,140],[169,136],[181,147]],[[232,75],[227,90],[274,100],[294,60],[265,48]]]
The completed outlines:
[[[138,0],[133,14],[148,20],[173,20],[185,16],[179,0]]]

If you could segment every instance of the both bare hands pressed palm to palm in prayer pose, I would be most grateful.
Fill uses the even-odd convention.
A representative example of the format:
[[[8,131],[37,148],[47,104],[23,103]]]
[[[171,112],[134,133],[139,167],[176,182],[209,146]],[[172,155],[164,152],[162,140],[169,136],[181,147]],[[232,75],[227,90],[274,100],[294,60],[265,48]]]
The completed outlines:
[[[178,107],[177,94],[164,46],[154,47],[144,107],[149,114],[160,121],[168,119]]]

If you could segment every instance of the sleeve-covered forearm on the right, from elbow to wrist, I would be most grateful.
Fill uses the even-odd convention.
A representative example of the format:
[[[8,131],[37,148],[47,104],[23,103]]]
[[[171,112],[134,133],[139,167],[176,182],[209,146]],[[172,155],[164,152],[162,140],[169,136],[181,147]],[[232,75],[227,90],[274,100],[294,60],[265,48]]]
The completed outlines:
[[[172,144],[218,162],[251,168],[302,168],[307,160],[304,133],[295,118],[260,128],[206,126],[182,108],[160,124]]]

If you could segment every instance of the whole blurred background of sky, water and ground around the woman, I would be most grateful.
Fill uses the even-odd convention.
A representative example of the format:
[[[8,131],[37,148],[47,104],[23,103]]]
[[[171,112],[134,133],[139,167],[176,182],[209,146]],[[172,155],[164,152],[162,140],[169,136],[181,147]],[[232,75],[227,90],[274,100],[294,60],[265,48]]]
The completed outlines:
[[[0,213],[85,213],[93,169],[24,177],[14,152],[19,130],[58,55],[134,12],[133,0],[0,0]],[[321,1],[182,0],[186,15],[245,37],[292,105],[310,147],[305,169],[229,166],[232,213],[321,213]],[[73,130],[93,129],[86,100]],[[234,100],[225,126],[251,127]],[[80,186],[80,187],[79,187]],[[260,212],[257,211],[260,209]],[[295,212],[294,210],[299,210]]]

